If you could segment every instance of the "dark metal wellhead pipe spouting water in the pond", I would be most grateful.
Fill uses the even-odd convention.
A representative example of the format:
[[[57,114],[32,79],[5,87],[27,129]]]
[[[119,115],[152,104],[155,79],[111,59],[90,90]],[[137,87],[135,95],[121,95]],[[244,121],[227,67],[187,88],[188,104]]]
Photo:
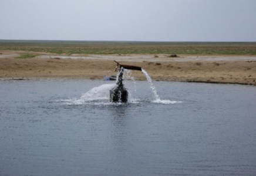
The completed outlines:
[[[114,61],[116,62],[116,61]],[[130,65],[120,65],[118,62],[117,66],[119,66],[119,72],[117,75],[117,86],[110,90],[110,101],[114,103],[126,103],[128,101],[128,91],[124,88],[123,85],[123,70],[142,70],[142,67],[130,66]]]

